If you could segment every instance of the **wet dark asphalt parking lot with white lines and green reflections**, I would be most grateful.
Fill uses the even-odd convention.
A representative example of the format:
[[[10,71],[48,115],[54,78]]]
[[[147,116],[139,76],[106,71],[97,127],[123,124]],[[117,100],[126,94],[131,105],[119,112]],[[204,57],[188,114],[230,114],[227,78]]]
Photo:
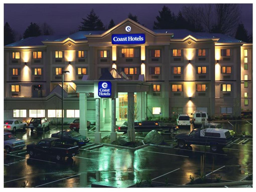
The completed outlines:
[[[183,131],[190,130],[179,130]],[[16,137],[31,143],[55,132],[54,127],[47,133],[31,133],[27,129]],[[252,140],[245,145],[240,141],[218,153],[206,147],[207,177],[241,181],[252,174]],[[129,187],[140,179],[183,185],[190,181],[189,175],[195,179],[200,175],[200,158],[205,147],[191,146],[192,149],[148,146],[136,151],[108,146],[85,148],[80,149],[73,161],[61,163],[39,156],[29,158],[26,152],[4,154],[4,187],[21,187],[24,181],[28,181],[26,187],[91,187],[91,184]]]

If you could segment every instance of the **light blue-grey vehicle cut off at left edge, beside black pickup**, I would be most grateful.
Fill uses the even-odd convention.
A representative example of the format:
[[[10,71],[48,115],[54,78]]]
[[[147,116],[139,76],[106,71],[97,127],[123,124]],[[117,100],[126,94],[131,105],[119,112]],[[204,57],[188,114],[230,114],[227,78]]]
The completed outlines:
[[[17,139],[12,133],[4,132],[4,149],[7,153],[25,147],[25,141]]]

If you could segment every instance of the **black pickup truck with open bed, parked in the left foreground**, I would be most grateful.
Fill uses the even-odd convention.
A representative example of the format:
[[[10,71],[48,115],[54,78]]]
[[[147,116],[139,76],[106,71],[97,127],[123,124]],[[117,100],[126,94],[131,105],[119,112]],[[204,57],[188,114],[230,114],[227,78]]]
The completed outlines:
[[[64,157],[73,157],[79,153],[79,147],[73,145],[61,144],[59,138],[45,138],[37,144],[27,145],[27,152],[30,157],[37,154],[44,156],[54,156],[57,161],[61,161]]]

